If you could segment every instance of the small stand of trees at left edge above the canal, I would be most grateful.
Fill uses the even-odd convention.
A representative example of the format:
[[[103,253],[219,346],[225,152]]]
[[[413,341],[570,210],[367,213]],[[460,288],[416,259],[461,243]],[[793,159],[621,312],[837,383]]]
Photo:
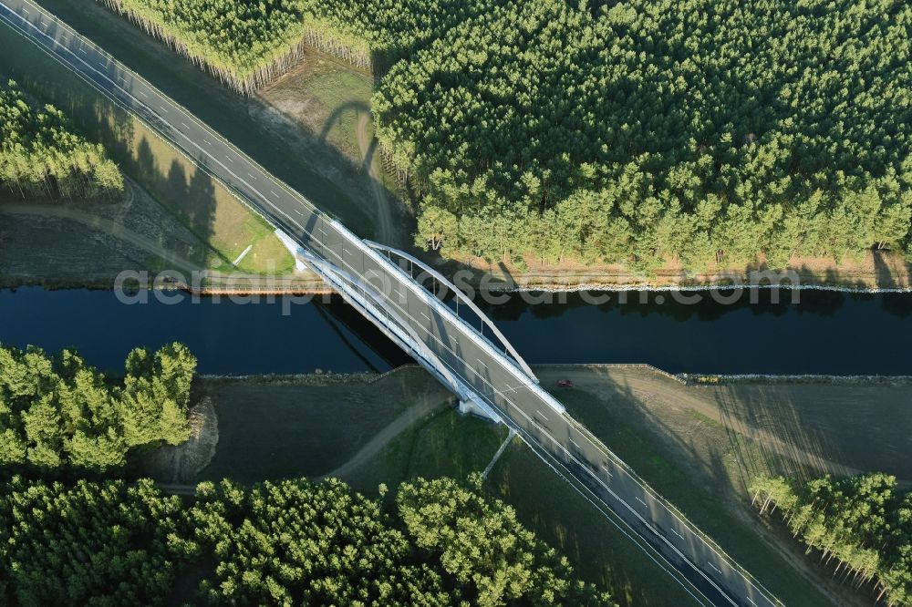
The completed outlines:
[[[30,104],[12,80],[0,86],[0,184],[22,198],[94,198],[124,187],[104,148],[54,106]]]

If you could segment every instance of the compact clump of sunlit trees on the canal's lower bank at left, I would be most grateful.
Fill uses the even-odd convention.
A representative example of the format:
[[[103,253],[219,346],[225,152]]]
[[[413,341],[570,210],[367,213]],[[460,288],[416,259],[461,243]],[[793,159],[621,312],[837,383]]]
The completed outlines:
[[[181,344],[133,350],[119,382],[72,350],[0,345],[0,467],[101,473],[131,448],[183,442],[195,369]]]

